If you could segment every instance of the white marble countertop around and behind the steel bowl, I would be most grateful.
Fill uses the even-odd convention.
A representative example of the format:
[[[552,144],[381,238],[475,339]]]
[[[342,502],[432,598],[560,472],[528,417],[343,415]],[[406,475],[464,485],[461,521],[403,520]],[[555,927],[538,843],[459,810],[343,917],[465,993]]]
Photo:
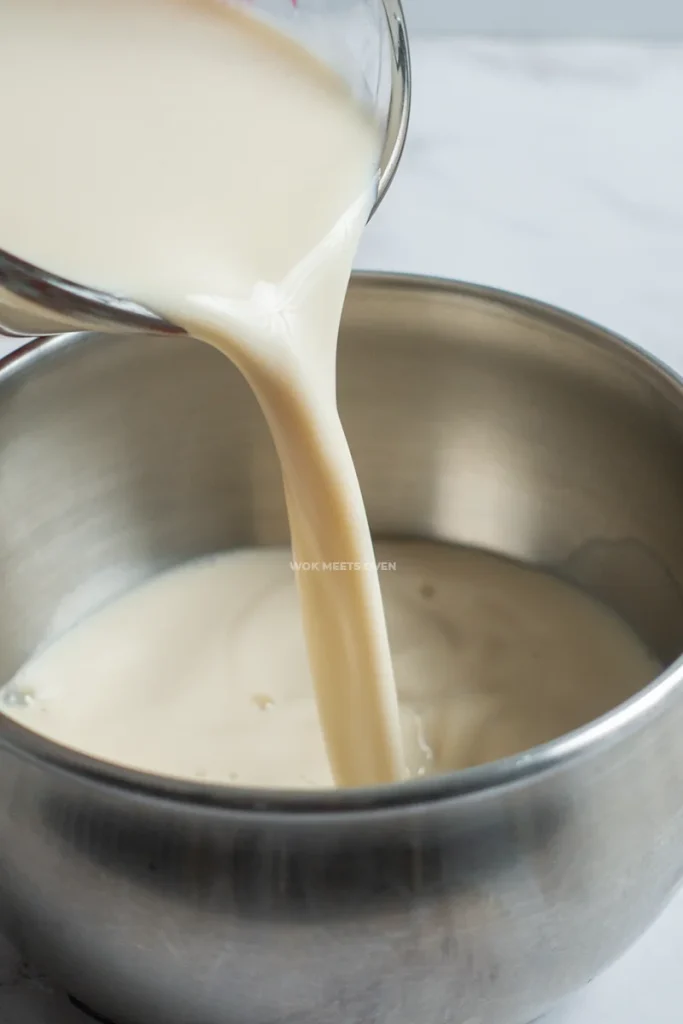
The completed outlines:
[[[683,372],[682,110],[683,47],[418,40],[410,141],[357,265],[520,292]],[[682,944],[683,895],[547,1024],[679,1024]],[[0,942],[0,1021],[85,1019]]]

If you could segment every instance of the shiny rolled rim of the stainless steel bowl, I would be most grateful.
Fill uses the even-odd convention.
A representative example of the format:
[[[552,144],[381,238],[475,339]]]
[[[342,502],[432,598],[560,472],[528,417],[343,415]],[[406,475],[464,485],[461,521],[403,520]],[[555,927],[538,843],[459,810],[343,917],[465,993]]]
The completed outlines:
[[[500,304],[508,311],[570,329],[583,334],[586,341],[610,348],[614,354],[636,362],[641,371],[649,372],[659,381],[667,380],[681,394],[683,404],[683,380],[670,368],[617,335],[555,306],[500,289],[409,274],[354,273],[353,287],[369,291],[381,288],[456,294],[472,300]],[[14,374],[26,371],[48,351],[73,344],[78,337],[78,334],[65,334],[29,342],[16,352],[0,359],[0,384]],[[590,757],[627,738],[633,731],[644,727],[654,716],[666,713],[669,702],[681,685],[683,656],[630,700],[602,718],[542,746],[481,767],[372,790],[305,793],[247,790],[150,775],[61,746],[25,729],[2,714],[0,744],[20,758],[79,778],[86,785],[122,790],[146,800],[190,804],[198,810],[205,808],[225,814],[249,812],[254,817],[286,816],[288,820],[293,820],[296,817],[325,815],[328,820],[332,817],[343,820],[351,815],[390,815],[399,809],[418,811],[421,806],[436,802],[480,797],[486,792],[516,786],[561,769],[578,757]]]

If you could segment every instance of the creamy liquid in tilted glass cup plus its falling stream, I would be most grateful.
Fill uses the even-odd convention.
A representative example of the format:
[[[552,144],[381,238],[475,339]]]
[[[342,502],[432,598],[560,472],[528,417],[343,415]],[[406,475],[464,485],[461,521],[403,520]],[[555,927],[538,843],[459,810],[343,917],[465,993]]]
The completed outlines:
[[[376,189],[368,112],[219,0],[1,0],[0,93],[2,248],[221,349],[270,426],[296,559],[373,563],[335,387]],[[301,573],[299,591],[336,781],[403,778],[377,573]]]

